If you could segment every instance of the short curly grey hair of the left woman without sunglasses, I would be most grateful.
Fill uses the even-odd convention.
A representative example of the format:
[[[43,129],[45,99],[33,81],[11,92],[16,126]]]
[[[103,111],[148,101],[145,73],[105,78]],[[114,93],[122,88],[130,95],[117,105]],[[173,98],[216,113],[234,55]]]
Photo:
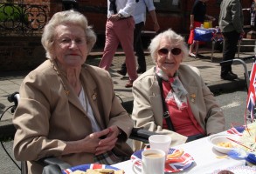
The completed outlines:
[[[46,50],[47,58],[54,58],[52,57],[52,46],[56,34],[55,29],[60,24],[65,23],[79,25],[85,31],[88,54],[93,49],[93,45],[96,43],[96,35],[92,27],[88,25],[86,17],[78,11],[65,10],[55,13],[51,20],[45,25],[43,30],[41,43]]]

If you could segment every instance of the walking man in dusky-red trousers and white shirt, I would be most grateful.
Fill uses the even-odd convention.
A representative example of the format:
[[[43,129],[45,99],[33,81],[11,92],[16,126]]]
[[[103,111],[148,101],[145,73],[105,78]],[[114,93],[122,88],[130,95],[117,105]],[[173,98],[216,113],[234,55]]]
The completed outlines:
[[[133,46],[135,20],[132,15],[134,10],[135,0],[107,0],[106,43],[99,64],[100,68],[108,70],[118,44],[121,43],[129,76],[128,84],[125,85],[127,88],[132,87],[138,77]]]

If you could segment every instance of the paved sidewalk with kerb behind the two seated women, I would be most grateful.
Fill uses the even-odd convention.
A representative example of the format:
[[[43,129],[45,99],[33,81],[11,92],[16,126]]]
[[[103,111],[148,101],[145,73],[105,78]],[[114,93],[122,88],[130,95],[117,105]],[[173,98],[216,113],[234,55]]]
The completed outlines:
[[[92,65],[98,65],[100,63],[102,52],[99,50],[93,51],[90,56],[87,58],[86,63]],[[149,57],[149,52],[146,52],[146,61],[147,61],[147,69],[151,68],[155,65]],[[253,57],[254,52],[240,52],[239,58],[246,58],[246,68],[247,70],[252,70],[253,59],[247,57]],[[237,56],[237,55],[236,55]],[[133,107],[133,95],[131,88],[125,88],[125,84],[128,82],[128,76],[122,77],[116,70],[119,70],[121,64],[124,62],[124,54],[121,51],[118,51],[113,59],[112,66],[109,70],[113,82],[114,82],[114,91],[116,95],[121,98],[124,107],[130,113]],[[205,84],[210,88],[210,90],[215,94],[222,94],[231,92],[234,90],[245,90],[246,89],[246,80],[245,80],[245,69],[244,66],[240,63],[234,62],[232,65],[232,70],[234,73],[238,74],[239,78],[234,81],[225,81],[220,78],[220,65],[222,53],[219,51],[215,51],[213,54],[213,58],[211,61],[211,49],[208,48],[200,48],[199,56],[197,58],[187,57],[183,60],[183,64],[190,64],[192,66],[196,66],[204,79]],[[3,113],[3,110],[8,108],[10,102],[7,100],[7,97],[13,92],[18,91],[19,85],[22,83],[24,77],[27,75],[28,71],[8,71],[1,72],[0,71],[0,114]],[[4,114],[2,120],[0,121],[0,134],[1,127],[5,127],[6,125],[10,128],[12,113],[10,110]],[[2,132],[3,135],[3,132]],[[13,157],[12,153],[12,144],[13,141],[6,141],[4,143],[7,147],[7,151],[10,152],[10,155]],[[10,161],[10,157],[4,154],[2,148],[0,148],[0,170],[1,173],[18,173],[17,167]],[[19,164],[19,163],[18,163]]]

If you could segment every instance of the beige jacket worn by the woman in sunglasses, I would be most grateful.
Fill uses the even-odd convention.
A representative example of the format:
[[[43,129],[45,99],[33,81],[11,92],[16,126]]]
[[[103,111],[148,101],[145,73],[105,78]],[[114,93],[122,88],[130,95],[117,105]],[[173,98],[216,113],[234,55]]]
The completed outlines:
[[[163,104],[155,74],[156,67],[153,67],[134,82],[133,94],[135,100],[132,118],[135,120],[135,127],[169,134],[172,137],[171,146],[183,144],[187,137],[162,128]],[[224,131],[225,117],[223,112],[209,88],[204,84],[199,70],[181,64],[179,78],[188,91],[187,98],[192,113],[207,135]],[[208,117],[207,122],[205,122],[206,117]],[[135,151],[142,147],[143,144],[135,142]]]

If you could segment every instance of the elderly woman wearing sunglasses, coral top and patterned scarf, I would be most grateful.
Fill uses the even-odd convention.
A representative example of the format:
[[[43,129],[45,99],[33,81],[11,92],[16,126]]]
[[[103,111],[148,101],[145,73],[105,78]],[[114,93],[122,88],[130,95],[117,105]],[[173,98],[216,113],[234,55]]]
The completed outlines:
[[[166,30],[151,41],[149,51],[156,66],[135,80],[135,127],[168,134],[171,145],[224,131],[223,112],[199,70],[181,64],[189,53],[183,37]]]

